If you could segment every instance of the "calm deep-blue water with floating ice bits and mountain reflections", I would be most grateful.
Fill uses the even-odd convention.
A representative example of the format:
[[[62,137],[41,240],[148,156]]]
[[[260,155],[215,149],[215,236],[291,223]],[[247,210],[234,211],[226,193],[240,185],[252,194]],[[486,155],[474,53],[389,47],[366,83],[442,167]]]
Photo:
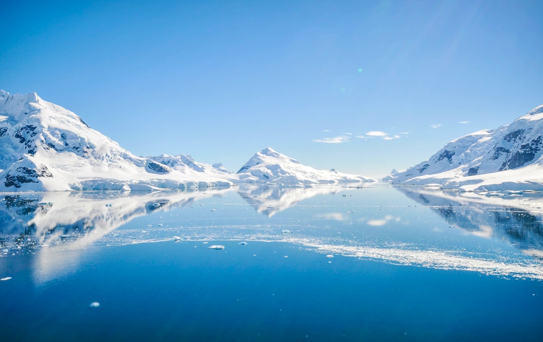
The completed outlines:
[[[1,198],[2,341],[543,340],[540,194]]]

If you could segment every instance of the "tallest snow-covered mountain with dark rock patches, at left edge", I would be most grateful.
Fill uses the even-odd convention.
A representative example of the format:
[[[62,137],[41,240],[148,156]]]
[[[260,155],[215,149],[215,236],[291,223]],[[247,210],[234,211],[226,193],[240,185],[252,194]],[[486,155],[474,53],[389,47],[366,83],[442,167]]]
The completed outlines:
[[[134,190],[230,185],[136,157],[36,93],[0,90],[0,191]]]

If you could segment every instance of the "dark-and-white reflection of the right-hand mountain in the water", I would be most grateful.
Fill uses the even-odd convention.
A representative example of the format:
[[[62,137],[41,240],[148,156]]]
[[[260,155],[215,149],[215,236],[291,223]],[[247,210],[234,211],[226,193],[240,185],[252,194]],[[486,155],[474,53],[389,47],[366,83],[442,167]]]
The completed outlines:
[[[430,207],[456,228],[479,237],[506,240],[527,254],[543,257],[543,196],[397,189]]]

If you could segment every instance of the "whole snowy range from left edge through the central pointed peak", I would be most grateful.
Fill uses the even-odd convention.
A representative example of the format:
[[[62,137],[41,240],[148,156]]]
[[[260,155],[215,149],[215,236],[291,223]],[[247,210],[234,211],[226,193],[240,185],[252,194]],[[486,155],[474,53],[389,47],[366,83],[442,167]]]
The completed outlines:
[[[269,183],[310,186],[374,179],[315,170],[266,148],[236,174],[190,155],[137,157],[36,93],[0,90],[0,191],[153,190]]]

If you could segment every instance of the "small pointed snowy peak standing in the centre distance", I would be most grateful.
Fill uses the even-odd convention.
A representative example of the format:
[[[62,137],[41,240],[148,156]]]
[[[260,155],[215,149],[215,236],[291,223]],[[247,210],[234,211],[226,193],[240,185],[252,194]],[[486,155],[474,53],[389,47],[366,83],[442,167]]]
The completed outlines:
[[[348,175],[336,170],[316,170],[300,164],[298,160],[277,153],[271,148],[257,152],[237,172],[245,183],[274,183],[283,185],[309,185],[347,182],[374,182],[375,179]]]

